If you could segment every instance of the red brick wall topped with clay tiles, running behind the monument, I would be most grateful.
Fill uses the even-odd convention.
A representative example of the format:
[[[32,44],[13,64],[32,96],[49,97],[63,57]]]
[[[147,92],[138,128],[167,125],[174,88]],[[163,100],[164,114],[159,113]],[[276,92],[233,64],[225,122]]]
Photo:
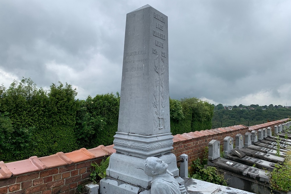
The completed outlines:
[[[223,146],[223,138],[236,134],[245,134],[252,130],[272,127],[284,123],[288,119],[247,127],[236,125],[205,131],[195,131],[173,136],[173,153],[177,160],[181,154],[187,154],[188,168],[192,161],[202,158],[204,149],[212,140],[219,140]],[[0,162],[0,194],[75,194],[78,185],[90,181],[91,163],[100,163],[105,155],[115,152],[113,145],[104,147],[54,154],[27,160],[4,164]],[[58,160],[58,161],[57,161]],[[63,162],[62,165],[55,164]],[[67,163],[67,165],[66,165]],[[51,167],[50,167],[51,166]],[[25,170],[23,170],[25,169]]]

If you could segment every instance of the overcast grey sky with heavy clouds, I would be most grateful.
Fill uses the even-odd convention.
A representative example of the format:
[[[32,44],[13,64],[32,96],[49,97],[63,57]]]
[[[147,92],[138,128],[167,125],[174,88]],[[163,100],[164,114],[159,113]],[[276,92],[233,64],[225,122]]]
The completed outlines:
[[[170,97],[291,106],[291,1],[0,0],[0,83],[120,92],[126,14],[168,16]]]

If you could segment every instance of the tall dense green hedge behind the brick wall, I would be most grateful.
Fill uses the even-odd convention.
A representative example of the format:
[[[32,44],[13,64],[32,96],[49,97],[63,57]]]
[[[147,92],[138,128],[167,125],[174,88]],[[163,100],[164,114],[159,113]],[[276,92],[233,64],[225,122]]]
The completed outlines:
[[[29,79],[0,86],[0,161],[111,145],[120,97],[107,93],[75,100],[76,89],[61,82],[48,91]],[[210,129],[213,106],[197,98],[170,99],[171,132]]]

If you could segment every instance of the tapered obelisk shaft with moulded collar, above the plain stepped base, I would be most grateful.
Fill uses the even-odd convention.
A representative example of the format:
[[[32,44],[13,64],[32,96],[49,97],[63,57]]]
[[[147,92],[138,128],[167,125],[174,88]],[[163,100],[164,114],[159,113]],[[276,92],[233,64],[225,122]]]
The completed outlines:
[[[170,130],[168,17],[149,5],[126,16],[117,153],[141,158],[173,149]]]

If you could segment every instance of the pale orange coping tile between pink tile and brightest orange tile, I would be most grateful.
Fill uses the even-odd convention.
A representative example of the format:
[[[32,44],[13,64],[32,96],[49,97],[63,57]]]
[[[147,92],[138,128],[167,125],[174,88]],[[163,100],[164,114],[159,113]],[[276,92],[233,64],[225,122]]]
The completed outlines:
[[[38,158],[47,168],[53,168],[57,166],[69,165],[73,161],[70,160],[63,152],[58,152],[54,155],[44,156]]]

